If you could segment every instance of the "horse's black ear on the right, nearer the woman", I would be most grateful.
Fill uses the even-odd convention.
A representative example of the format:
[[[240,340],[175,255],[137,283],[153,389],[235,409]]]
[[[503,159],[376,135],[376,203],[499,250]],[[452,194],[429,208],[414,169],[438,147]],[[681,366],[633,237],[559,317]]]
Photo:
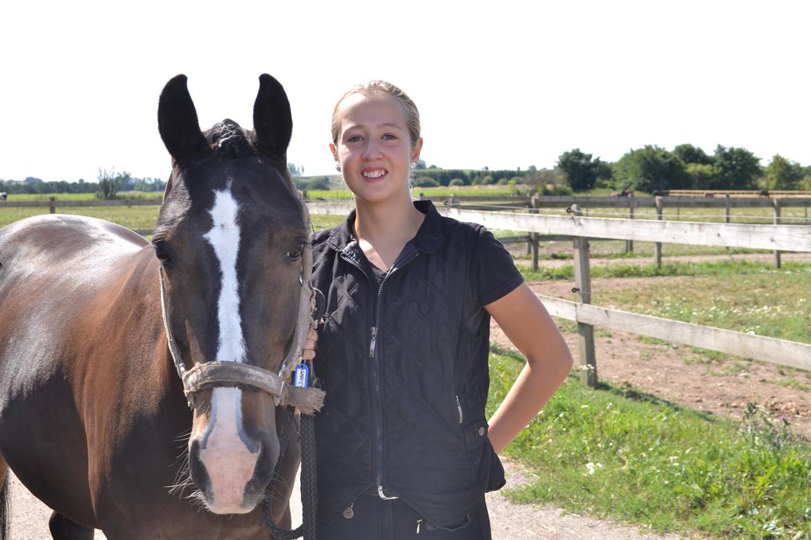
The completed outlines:
[[[259,78],[259,94],[254,103],[254,131],[260,152],[274,158],[285,155],[293,133],[290,101],[281,83],[268,74]]]

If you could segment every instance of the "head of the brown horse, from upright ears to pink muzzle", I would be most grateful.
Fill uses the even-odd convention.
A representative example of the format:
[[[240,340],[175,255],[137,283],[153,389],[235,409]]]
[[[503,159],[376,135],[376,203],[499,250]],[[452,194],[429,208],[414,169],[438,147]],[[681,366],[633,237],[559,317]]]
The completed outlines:
[[[285,91],[267,74],[254,131],[226,119],[201,132],[184,75],[161,92],[172,172],[152,244],[181,374],[226,363],[276,373],[295,347],[308,231],[286,166],[292,125]],[[279,397],[234,381],[194,394],[191,478],[212,512],[250,512],[279,458]]]

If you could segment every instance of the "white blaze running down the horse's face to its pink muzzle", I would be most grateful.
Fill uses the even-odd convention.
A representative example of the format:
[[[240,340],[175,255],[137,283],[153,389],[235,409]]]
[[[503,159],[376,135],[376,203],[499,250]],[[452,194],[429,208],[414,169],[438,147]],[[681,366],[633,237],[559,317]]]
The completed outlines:
[[[230,189],[214,192],[214,206],[208,213],[214,224],[204,238],[212,245],[222,274],[220,297],[217,300],[220,334],[217,337],[216,359],[219,362],[244,362],[245,339],[239,315],[237,280],[239,204]],[[242,508],[242,497],[258,456],[247,449],[240,436],[242,390],[213,389],[210,422],[213,425],[206,447],[200,450],[200,460],[211,480],[211,510],[217,513],[247,512]]]

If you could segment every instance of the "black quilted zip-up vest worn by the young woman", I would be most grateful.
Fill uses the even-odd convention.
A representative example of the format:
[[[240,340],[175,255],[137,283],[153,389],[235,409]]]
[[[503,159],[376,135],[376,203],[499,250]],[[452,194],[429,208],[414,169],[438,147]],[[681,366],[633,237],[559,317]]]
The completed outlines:
[[[321,521],[383,487],[430,525],[458,524],[504,485],[484,413],[490,317],[470,276],[481,226],[414,204],[426,218],[380,287],[354,212],[312,237],[312,283],[327,300],[314,366],[327,393],[315,421]]]

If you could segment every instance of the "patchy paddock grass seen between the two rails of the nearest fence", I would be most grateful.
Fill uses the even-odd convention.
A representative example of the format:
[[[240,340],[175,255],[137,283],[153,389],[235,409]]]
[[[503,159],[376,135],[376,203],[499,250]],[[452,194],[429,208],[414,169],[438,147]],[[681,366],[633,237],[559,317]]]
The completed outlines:
[[[527,280],[573,280],[573,267],[521,273]],[[717,261],[595,266],[594,278],[656,278],[592,285],[592,304],[698,325],[811,343],[811,263]],[[702,351],[702,354],[710,354]],[[720,353],[714,353],[719,354]]]

